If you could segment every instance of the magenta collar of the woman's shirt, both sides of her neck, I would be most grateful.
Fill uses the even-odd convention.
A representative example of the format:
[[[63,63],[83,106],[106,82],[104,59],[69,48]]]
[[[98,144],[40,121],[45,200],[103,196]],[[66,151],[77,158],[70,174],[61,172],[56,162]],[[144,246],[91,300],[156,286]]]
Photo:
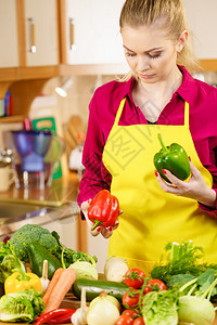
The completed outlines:
[[[174,93],[173,98],[179,94],[186,102],[191,103],[196,94],[196,81],[195,79],[189,74],[184,66],[178,66],[183,75],[183,80],[181,86],[177,89]],[[131,77],[126,83],[123,89],[122,98],[128,95],[131,99],[131,90],[135,83],[135,78]]]

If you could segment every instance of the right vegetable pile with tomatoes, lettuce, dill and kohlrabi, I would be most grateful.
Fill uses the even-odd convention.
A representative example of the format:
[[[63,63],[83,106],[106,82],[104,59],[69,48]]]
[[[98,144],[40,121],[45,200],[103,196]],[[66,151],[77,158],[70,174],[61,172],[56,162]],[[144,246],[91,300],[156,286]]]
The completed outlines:
[[[156,278],[145,277],[139,269],[128,270],[125,282],[129,289],[123,297],[126,310],[116,325],[213,324],[216,264],[200,263],[203,249],[191,240],[170,243],[166,251],[168,262],[159,262],[151,272]]]

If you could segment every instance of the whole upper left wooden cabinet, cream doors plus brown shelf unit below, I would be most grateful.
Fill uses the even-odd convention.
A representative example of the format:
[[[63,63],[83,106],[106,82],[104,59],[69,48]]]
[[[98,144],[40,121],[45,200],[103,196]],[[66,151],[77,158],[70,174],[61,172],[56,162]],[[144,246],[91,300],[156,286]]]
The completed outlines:
[[[59,0],[0,0],[0,99],[10,90],[14,107],[0,123],[22,121],[59,75]]]

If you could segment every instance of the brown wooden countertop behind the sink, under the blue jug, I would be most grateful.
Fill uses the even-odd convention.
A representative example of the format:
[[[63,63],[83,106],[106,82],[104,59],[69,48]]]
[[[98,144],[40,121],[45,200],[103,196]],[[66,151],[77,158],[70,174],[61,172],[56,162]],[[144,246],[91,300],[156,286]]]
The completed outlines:
[[[47,206],[62,206],[68,202],[76,202],[78,195],[79,181],[76,172],[68,172],[60,179],[53,180],[51,187],[39,188],[15,188],[0,193],[1,202],[16,202],[26,204],[37,204]]]

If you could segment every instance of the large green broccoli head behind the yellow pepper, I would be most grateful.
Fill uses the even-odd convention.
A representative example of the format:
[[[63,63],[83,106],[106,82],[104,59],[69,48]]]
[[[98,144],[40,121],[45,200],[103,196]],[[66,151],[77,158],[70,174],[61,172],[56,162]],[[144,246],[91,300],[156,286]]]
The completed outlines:
[[[39,243],[51,253],[59,249],[58,240],[47,229],[38,224],[25,224],[10,239],[14,253],[20,260],[29,262],[27,247],[31,242]]]

